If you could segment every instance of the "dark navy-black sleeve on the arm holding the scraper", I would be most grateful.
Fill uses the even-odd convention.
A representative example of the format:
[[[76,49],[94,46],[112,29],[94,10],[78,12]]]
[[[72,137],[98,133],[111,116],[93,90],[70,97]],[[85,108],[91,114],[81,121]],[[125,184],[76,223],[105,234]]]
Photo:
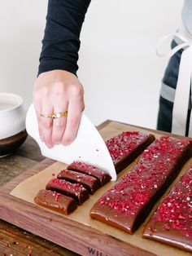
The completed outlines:
[[[80,33],[91,0],[49,0],[40,73],[63,69],[76,74]]]

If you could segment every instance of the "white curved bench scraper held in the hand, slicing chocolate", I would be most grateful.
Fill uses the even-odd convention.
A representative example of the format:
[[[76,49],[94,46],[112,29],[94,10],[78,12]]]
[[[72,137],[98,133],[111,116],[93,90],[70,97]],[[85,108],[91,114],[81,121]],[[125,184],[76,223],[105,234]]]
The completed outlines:
[[[41,142],[38,133],[37,116],[33,104],[28,108],[26,117],[26,130],[28,135],[35,139],[44,157],[49,157],[56,161],[61,161],[67,165],[72,161],[84,161],[107,171],[111,175],[111,180],[116,180],[116,170],[104,142],[98,130],[89,121],[85,114],[82,114],[79,130],[76,139],[68,146],[55,145],[54,148],[47,148]]]

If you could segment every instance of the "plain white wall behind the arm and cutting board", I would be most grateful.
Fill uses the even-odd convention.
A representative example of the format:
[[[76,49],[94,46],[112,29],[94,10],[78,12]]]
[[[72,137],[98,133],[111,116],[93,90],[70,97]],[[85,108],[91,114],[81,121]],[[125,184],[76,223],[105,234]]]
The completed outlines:
[[[55,0],[56,1],[56,0]],[[166,59],[159,38],[181,23],[182,0],[92,0],[81,32],[78,76],[85,113],[155,128]],[[47,0],[0,1],[0,91],[32,101]]]

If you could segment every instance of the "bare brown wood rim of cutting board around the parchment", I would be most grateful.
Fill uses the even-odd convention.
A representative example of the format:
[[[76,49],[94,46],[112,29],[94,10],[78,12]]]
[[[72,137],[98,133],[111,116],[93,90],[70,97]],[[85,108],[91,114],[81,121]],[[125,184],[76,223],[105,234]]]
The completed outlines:
[[[111,121],[106,121],[98,128],[102,129],[109,123]],[[161,134],[167,135],[164,132]],[[56,215],[9,194],[21,181],[33,176],[33,174],[37,174],[37,172],[45,169],[54,162],[50,159],[45,159],[1,188],[0,218],[37,236],[54,241],[55,244],[71,249],[81,255],[155,255],[129,244],[129,241],[125,243],[113,236],[105,234],[104,231],[99,232],[92,227],[76,223],[75,221]]]

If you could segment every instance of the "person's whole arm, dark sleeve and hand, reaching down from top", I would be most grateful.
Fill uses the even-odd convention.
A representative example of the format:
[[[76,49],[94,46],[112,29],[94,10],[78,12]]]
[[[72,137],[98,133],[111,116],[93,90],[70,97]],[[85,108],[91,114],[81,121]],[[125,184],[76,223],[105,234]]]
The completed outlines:
[[[39,133],[51,148],[76,137],[84,109],[83,87],[76,77],[81,26],[90,0],[50,0],[42,40],[40,65],[33,90]],[[40,113],[65,112],[68,117],[40,117]]]

